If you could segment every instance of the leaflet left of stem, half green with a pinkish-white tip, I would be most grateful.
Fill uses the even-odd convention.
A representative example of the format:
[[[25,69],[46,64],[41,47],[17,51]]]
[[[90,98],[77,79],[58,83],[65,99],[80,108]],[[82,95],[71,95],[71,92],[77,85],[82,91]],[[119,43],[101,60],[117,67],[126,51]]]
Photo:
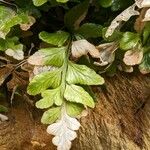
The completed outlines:
[[[32,65],[52,65],[60,67],[65,59],[66,47],[44,48],[29,57]]]

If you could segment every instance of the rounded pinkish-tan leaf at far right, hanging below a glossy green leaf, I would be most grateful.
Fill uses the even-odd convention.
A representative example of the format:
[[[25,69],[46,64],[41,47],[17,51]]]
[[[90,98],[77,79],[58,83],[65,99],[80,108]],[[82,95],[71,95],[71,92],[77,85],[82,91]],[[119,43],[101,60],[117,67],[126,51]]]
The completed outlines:
[[[138,49],[129,50],[125,53],[123,61],[126,65],[134,66],[141,63],[143,52]]]

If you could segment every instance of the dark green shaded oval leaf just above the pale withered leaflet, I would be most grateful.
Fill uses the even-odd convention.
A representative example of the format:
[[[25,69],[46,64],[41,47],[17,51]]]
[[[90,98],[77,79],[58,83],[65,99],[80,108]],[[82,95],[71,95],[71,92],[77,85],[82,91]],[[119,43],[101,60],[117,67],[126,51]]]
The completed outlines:
[[[85,23],[77,31],[84,38],[97,38],[102,36],[102,26],[94,23]]]

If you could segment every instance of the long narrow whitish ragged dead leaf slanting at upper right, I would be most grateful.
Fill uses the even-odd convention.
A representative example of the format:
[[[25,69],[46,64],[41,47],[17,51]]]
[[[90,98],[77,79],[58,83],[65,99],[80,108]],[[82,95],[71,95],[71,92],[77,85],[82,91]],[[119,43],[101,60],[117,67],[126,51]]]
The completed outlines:
[[[105,34],[106,38],[113,34],[114,30],[121,24],[122,21],[128,21],[132,16],[140,14],[137,10],[135,10],[135,7],[136,4],[131,5],[111,22],[111,25],[108,27]]]

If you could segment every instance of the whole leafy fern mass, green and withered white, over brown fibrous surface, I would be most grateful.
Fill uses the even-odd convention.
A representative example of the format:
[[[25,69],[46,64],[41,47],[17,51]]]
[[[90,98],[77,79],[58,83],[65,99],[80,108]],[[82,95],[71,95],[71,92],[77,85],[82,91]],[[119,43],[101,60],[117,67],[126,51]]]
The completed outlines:
[[[121,0],[0,2],[0,84],[13,76],[7,82],[11,103],[22,85],[28,85],[29,95],[40,95],[35,106],[44,111],[41,122],[48,124],[58,150],[71,148],[78,118],[95,107],[91,86],[104,84],[102,73],[136,67],[150,73],[149,0],[128,0],[125,7]],[[94,23],[100,9],[119,15]]]

